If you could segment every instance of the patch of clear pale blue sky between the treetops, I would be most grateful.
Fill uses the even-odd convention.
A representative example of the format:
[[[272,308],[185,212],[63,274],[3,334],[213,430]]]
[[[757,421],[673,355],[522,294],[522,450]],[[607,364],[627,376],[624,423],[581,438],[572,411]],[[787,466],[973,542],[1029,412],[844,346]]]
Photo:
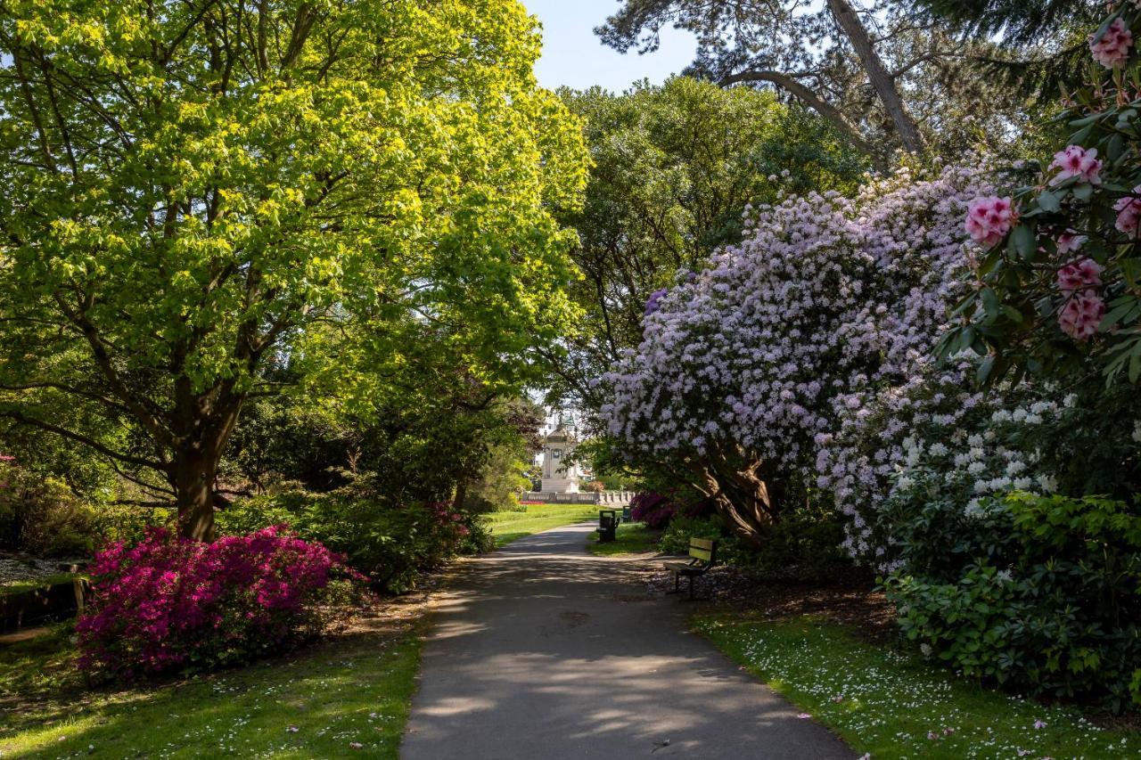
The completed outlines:
[[[543,24],[543,55],[535,76],[550,89],[601,84],[621,92],[644,76],[659,83],[694,58],[693,35],[673,29],[663,31],[661,48],[644,56],[604,47],[593,30],[621,7],[617,0],[521,1]]]

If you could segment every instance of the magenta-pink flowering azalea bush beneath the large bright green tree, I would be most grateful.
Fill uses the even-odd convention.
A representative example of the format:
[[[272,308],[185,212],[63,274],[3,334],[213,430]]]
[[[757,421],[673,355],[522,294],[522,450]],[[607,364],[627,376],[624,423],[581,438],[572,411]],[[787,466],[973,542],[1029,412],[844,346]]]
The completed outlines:
[[[91,566],[80,668],[130,680],[248,662],[321,633],[355,574],[283,526],[213,542],[152,529]]]

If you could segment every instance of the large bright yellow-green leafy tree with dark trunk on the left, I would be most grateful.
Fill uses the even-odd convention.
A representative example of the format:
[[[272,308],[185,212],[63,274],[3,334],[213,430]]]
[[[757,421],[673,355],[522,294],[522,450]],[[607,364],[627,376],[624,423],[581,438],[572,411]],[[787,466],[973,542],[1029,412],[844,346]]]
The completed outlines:
[[[207,539],[275,370],[379,393],[414,323],[518,382],[573,314],[551,212],[584,181],[539,45],[511,0],[3,3],[0,415]]]

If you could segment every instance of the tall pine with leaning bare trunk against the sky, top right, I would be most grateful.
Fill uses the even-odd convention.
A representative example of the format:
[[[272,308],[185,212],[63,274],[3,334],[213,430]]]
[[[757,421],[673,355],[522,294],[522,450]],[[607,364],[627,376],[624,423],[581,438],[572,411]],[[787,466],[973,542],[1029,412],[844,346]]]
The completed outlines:
[[[979,128],[972,136],[984,139],[1011,131],[1011,120],[1021,121],[1017,91],[979,78],[966,65],[997,46],[958,37],[942,18],[905,3],[626,0],[596,31],[620,51],[647,51],[671,24],[697,35],[691,73],[723,86],[776,88],[827,119],[883,167],[893,147],[912,153],[931,143],[961,148],[966,114]]]

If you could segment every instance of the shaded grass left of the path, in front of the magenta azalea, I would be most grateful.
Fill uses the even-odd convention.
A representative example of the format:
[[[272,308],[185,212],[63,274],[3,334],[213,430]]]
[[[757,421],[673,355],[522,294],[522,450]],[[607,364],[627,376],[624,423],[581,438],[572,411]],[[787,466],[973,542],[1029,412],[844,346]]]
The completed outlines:
[[[416,633],[369,630],[210,677],[89,692],[60,626],[0,648],[0,757],[395,760]]]

